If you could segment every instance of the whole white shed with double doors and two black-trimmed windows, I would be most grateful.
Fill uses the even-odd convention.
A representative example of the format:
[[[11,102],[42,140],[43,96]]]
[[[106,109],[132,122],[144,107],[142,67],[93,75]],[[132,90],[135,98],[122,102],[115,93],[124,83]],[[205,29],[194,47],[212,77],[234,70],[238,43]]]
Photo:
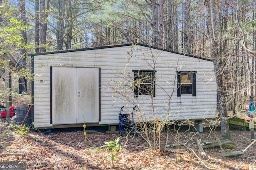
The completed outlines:
[[[122,106],[135,121],[216,117],[214,65],[143,44],[30,54],[35,128],[116,125]]]

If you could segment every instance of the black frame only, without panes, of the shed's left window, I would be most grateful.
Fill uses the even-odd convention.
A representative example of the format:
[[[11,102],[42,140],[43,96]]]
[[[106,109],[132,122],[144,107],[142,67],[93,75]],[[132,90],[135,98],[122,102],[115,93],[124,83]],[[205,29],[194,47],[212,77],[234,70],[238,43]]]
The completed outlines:
[[[152,97],[156,97],[156,84],[155,84],[155,75],[156,75],[156,70],[132,70],[132,72],[134,72],[134,97],[138,98],[139,96],[152,96]],[[153,88],[153,90],[151,91],[151,94],[147,93],[147,94],[139,94],[139,86],[138,86],[138,74],[140,72],[151,72],[151,88]],[[143,83],[144,84],[144,83]],[[145,83],[147,84],[147,83]],[[146,91],[144,91],[146,92]]]

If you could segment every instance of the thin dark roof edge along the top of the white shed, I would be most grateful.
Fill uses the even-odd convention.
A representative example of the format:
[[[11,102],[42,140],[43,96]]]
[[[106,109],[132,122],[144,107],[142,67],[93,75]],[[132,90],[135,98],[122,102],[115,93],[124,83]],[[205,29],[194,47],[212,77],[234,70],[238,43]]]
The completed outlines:
[[[44,52],[44,53],[29,54],[29,56],[33,57],[33,56],[36,56],[36,55],[48,55],[48,54],[57,54],[57,53],[68,53],[68,52],[74,52],[74,51],[87,51],[87,50],[96,50],[96,49],[107,49],[107,48],[125,47],[125,46],[131,46],[131,45],[134,45],[134,44],[130,43],[130,44],[121,44],[121,45],[108,45],[108,46],[102,46],[102,47],[90,47],[90,48],[82,48],[82,49],[70,49],[70,50],[62,50],[62,51],[51,51],[51,52]],[[198,56],[194,56],[194,55],[179,53],[179,52],[171,51],[171,50],[167,50],[167,49],[161,49],[161,48],[157,48],[157,47],[152,47],[152,46],[145,45],[145,44],[136,43],[136,45],[140,45],[140,46],[143,46],[143,47],[150,47],[152,49],[158,49],[160,51],[167,51],[167,52],[170,52],[170,53],[175,53],[175,54],[184,55],[184,56],[188,56],[188,57],[193,57],[193,58],[200,59],[200,60],[212,61],[211,59],[206,59],[206,58],[202,58],[202,57],[198,57]]]

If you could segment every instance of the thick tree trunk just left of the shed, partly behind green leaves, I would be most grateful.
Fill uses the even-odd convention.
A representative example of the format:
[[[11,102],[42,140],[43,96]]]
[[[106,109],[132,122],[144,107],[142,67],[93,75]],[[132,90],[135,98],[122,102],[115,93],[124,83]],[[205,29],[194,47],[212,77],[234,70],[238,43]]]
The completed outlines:
[[[26,21],[25,2],[26,2],[26,0],[18,0],[19,11],[20,11],[20,21],[21,21],[22,27],[26,26],[26,22],[27,22]],[[19,66],[19,68],[26,68],[27,50],[26,50],[26,47],[24,47],[28,43],[26,28],[24,30],[22,30],[21,35],[22,35],[22,39],[21,39],[22,45],[19,48],[20,57],[18,60],[18,66]],[[27,92],[26,78],[21,75],[18,82],[19,82],[19,94],[26,93]]]

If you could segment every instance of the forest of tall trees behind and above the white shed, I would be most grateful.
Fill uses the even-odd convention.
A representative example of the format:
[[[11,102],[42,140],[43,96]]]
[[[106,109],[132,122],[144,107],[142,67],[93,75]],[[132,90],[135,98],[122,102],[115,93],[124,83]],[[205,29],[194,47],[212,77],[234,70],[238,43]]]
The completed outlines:
[[[1,58],[0,102],[10,71],[12,95],[30,94],[29,53],[140,42],[212,59],[220,115],[236,114],[256,96],[255,14],[254,0],[0,0],[0,56],[18,61]]]

